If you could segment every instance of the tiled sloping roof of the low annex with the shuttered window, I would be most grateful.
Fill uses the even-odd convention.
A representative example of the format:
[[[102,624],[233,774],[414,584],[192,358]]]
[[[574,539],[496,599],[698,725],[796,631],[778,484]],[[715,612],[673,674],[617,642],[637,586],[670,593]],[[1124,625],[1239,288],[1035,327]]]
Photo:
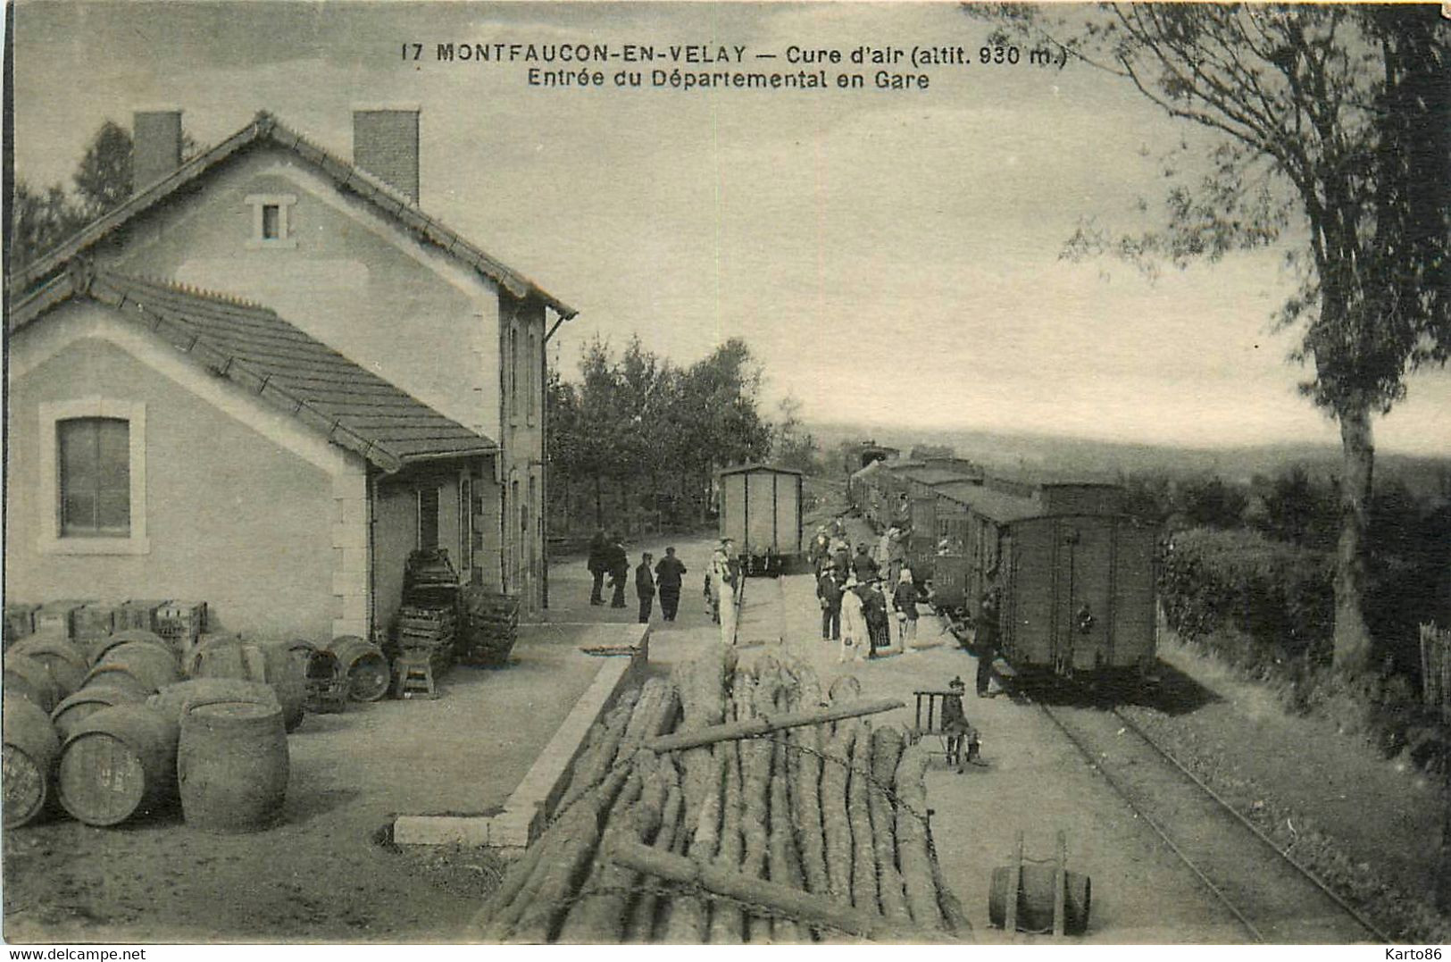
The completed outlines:
[[[241,385],[385,472],[499,445],[255,303],[77,261],[10,312],[9,332],[86,297],[116,309],[212,373]]]

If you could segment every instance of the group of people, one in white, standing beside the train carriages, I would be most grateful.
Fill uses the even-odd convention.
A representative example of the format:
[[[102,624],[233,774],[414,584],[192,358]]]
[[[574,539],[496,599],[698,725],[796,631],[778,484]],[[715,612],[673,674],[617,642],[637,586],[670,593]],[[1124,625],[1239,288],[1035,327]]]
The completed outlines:
[[[840,643],[840,662],[876,657],[892,646],[891,620],[900,625],[903,650],[917,640],[920,591],[894,541],[894,528],[882,537],[874,557],[866,541],[850,553],[840,521],[833,537],[826,527],[817,533],[811,557],[817,569],[817,601],[821,605],[821,638]],[[891,595],[888,596],[888,591]]]

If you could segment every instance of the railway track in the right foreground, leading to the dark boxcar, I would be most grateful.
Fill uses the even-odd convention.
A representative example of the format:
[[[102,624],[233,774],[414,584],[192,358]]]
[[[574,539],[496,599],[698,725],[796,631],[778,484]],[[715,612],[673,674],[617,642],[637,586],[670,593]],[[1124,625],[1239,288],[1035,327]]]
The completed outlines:
[[[1392,942],[1117,708],[1035,704],[1244,927],[1248,940]]]

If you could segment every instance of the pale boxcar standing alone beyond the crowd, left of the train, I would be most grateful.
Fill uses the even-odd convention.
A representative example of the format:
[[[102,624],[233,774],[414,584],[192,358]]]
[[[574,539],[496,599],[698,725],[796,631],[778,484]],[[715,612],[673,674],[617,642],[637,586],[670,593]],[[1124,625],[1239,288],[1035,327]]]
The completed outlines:
[[[736,543],[747,575],[795,566],[801,544],[801,472],[741,464],[720,472],[720,531]]]

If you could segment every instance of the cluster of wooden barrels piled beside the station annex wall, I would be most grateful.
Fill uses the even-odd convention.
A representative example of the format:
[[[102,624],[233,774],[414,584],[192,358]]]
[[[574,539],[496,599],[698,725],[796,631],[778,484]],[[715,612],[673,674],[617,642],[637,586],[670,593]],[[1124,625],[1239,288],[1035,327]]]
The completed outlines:
[[[180,802],[189,824],[266,827],[287,786],[287,725],[302,720],[297,643],[216,641],[190,654],[151,631],[80,644],[48,630],[4,656],[4,824],[58,802],[116,826]],[[302,643],[306,644],[306,643]],[[309,646],[311,647],[311,646]]]

